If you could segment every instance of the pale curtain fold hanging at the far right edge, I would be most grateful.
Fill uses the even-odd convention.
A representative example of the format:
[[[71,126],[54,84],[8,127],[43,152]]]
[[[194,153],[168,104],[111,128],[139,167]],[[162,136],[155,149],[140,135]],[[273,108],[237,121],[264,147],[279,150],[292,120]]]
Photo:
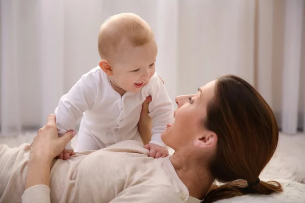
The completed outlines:
[[[282,128],[296,133],[301,70],[303,0],[285,1]]]

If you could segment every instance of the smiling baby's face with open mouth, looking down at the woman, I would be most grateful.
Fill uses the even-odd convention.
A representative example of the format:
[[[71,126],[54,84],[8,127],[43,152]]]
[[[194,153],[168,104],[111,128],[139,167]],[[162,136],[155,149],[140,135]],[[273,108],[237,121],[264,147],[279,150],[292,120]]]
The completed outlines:
[[[143,46],[125,46],[112,63],[112,82],[125,91],[138,92],[155,74],[157,45],[155,41]]]

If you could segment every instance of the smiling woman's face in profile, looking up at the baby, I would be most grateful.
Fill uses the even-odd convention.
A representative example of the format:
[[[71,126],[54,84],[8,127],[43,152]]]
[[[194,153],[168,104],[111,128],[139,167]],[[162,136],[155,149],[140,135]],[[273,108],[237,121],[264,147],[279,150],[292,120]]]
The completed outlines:
[[[161,134],[167,146],[175,150],[180,146],[193,145],[196,137],[206,130],[203,119],[206,117],[206,106],[214,97],[215,82],[200,87],[196,94],[176,97],[175,123],[168,124]]]

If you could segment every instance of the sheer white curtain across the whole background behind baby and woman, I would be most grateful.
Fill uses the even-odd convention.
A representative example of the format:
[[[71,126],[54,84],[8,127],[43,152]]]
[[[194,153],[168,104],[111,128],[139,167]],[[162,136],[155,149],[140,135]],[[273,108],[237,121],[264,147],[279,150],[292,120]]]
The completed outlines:
[[[154,29],[156,69],[173,101],[235,74],[260,91],[284,132],[305,128],[304,0],[0,1],[4,136],[44,125],[60,96],[98,65],[101,23],[123,12]]]

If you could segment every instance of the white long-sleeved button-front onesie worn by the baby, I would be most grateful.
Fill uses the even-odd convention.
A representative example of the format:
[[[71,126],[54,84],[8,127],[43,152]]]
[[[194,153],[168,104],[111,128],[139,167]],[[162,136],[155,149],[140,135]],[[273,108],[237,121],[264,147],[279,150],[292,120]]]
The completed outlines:
[[[55,109],[58,134],[75,127],[83,116],[78,132],[76,151],[97,150],[123,140],[138,140],[137,123],[142,103],[151,96],[149,116],[153,118],[152,137],[149,143],[165,147],[161,133],[173,123],[173,104],[161,79],[155,74],[137,93],[121,96],[99,66],[84,74],[70,91],[60,98]],[[71,143],[66,149],[72,149]]]

